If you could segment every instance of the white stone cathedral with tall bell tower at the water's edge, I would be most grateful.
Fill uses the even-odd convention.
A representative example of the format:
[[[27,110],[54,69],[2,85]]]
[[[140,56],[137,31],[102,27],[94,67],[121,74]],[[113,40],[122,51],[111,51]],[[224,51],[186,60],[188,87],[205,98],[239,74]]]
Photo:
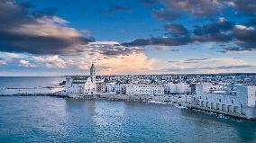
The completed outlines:
[[[96,94],[96,68],[90,67],[90,76],[66,76],[66,94]]]

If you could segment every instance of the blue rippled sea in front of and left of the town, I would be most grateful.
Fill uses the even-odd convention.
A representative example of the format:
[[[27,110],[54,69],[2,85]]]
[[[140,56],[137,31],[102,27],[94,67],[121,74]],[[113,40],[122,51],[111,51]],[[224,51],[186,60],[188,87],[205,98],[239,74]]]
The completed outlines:
[[[59,84],[64,77],[0,77],[0,87]],[[2,93],[3,94],[3,93]],[[0,142],[256,142],[256,121],[161,103],[0,96]]]

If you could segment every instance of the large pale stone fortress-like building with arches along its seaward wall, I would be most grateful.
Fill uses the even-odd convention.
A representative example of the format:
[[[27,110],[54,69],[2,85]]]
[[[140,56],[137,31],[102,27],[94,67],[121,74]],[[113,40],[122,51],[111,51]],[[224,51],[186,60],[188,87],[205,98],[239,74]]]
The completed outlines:
[[[256,85],[232,85],[213,91],[205,84],[196,86],[197,94],[192,100],[195,108],[256,119]]]

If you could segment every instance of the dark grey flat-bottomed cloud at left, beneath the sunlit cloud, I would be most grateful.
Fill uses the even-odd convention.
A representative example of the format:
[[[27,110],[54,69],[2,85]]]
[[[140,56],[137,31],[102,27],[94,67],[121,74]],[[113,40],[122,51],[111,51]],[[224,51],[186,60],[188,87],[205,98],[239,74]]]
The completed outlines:
[[[63,40],[55,37],[33,36],[0,31],[0,50],[32,54],[72,54],[82,52],[75,44],[87,44],[82,38]],[[78,45],[77,45],[78,46]]]

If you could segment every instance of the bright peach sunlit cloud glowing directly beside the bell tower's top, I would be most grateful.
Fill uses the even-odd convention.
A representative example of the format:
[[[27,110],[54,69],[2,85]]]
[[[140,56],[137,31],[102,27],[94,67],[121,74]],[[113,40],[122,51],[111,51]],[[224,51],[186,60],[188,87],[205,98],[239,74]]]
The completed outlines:
[[[94,58],[89,59],[94,61],[102,75],[116,74],[146,74],[154,70],[154,58],[148,58],[143,53],[133,53],[131,55],[119,55],[113,58],[105,58],[102,54],[96,54]],[[84,59],[86,61],[86,59]],[[79,64],[82,69],[87,69],[88,63]]]

